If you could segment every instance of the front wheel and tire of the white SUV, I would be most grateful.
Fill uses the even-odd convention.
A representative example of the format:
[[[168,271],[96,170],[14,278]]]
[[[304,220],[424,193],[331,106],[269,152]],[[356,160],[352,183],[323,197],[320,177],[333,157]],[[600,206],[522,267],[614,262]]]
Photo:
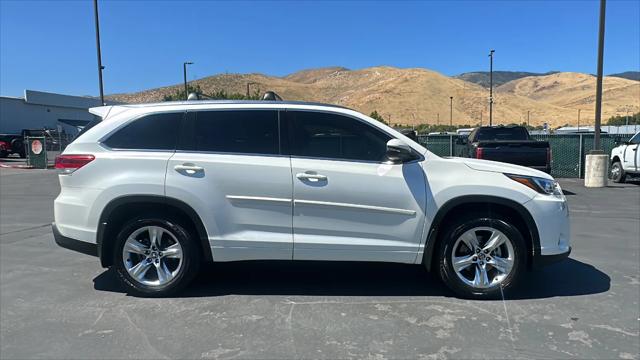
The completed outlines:
[[[474,249],[467,245],[474,242],[470,234],[475,235]],[[500,235],[497,239],[504,238],[501,240],[504,242],[498,242],[499,246],[485,253],[482,249],[486,249],[496,235]],[[439,273],[445,285],[460,297],[497,299],[518,282],[526,267],[525,254],[524,239],[509,220],[477,214],[445,229],[438,249]],[[454,267],[454,255],[466,260],[459,263],[460,271]]]

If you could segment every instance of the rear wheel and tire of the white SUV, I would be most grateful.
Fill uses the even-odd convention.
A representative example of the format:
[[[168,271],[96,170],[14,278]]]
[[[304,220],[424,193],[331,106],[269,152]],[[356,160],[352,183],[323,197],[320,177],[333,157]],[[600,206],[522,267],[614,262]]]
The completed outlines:
[[[160,235],[155,236],[160,239],[156,247],[152,234]],[[194,239],[186,227],[162,217],[126,223],[116,238],[113,266],[127,292],[164,297],[186,287],[200,268],[201,256]]]

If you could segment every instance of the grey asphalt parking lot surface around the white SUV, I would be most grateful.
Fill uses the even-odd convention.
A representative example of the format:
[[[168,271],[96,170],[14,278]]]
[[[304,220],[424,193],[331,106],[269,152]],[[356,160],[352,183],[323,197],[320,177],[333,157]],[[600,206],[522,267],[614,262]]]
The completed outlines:
[[[127,296],[57,247],[55,171],[0,169],[0,357],[640,358],[640,184],[561,181],[573,253],[505,301],[452,297],[419,266],[244,262],[179,298]]]

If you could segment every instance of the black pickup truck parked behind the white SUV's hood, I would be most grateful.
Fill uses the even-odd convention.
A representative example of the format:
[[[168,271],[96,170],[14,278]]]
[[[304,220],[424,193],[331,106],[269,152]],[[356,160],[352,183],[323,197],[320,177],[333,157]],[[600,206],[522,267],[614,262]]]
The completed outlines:
[[[459,139],[463,157],[501,161],[551,173],[551,147],[531,139],[524,126],[482,126]]]

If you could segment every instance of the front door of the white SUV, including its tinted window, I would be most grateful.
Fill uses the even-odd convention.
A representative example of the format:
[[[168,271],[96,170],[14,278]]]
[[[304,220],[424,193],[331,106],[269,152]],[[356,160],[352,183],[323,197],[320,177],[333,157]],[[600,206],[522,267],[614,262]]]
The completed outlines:
[[[426,203],[419,162],[384,163],[390,135],[362,120],[286,114],[294,259],[414,262]]]

